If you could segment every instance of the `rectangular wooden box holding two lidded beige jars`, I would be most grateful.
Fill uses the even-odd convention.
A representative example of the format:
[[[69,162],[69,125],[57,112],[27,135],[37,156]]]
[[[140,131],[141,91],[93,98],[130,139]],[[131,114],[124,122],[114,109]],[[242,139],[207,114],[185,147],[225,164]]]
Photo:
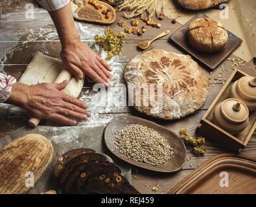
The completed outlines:
[[[256,78],[236,69],[196,132],[228,151],[246,147],[256,129]]]

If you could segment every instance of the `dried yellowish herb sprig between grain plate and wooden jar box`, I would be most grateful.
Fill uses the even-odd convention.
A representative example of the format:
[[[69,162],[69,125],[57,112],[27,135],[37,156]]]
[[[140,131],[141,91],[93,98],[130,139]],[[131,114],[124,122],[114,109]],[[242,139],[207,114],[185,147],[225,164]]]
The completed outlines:
[[[206,150],[203,149],[202,145],[205,144],[205,138],[202,136],[198,136],[198,138],[194,136],[187,135],[186,129],[180,129],[180,138],[184,140],[189,146],[192,147],[193,152],[198,155],[198,157],[201,157],[206,153]]]

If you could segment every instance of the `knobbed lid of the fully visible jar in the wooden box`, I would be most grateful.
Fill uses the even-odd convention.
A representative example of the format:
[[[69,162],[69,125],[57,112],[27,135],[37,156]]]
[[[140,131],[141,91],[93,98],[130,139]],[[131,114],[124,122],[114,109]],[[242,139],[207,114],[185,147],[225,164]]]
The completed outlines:
[[[220,107],[220,113],[227,122],[233,124],[241,124],[249,117],[246,104],[236,98],[225,100]]]

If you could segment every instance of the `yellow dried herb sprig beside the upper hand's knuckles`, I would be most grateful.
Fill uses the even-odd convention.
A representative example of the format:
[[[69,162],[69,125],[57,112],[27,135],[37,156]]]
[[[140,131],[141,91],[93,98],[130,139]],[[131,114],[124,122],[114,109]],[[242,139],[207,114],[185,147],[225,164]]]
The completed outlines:
[[[110,59],[122,52],[122,45],[125,43],[124,38],[126,38],[124,32],[117,34],[110,30],[110,28],[105,30],[104,35],[97,34],[94,37],[95,41],[99,43],[104,50],[108,51],[108,58]]]

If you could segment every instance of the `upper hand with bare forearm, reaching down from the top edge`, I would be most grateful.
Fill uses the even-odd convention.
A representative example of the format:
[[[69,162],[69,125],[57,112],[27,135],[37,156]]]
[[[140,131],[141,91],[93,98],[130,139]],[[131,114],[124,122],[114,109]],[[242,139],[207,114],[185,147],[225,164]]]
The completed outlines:
[[[82,79],[86,74],[97,83],[111,86],[113,76],[109,73],[110,66],[80,41],[70,3],[59,10],[49,12],[49,14],[58,32],[60,43],[62,43],[60,56],[67,69],[78,79]]]

